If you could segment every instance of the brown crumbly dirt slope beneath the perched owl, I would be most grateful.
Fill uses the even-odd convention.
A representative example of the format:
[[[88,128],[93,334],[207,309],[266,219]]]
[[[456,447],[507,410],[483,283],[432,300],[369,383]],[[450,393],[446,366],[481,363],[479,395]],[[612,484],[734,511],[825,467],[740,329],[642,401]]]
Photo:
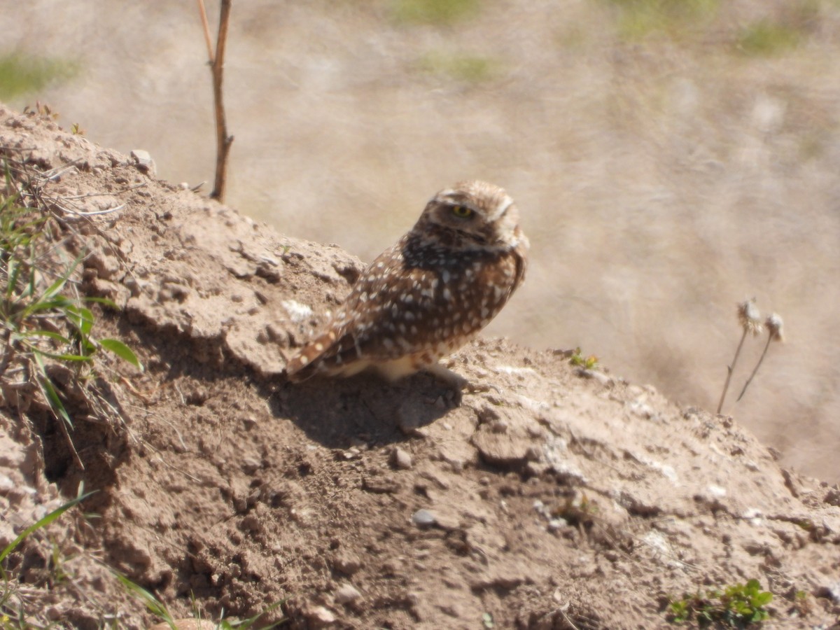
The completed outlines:
[[[751,578],[774,593],[772,627],[837,627],[840,491],[780,469],[732,418],[503,339],[452,360],[486,393],[427,375],[291,386],[283,352],[358,260],[49,120],[0,108],[0,146],[73,163],[46,189],[59,206],[124,204],[68,215],[60,245],[88,252],[80,286],[122,308],[97,325],[147,368],[102,359],[121,370],[99,384],[119,422],[67,392],[84,470],[43,406],[0,406],[0,549],[80,482],[98,491],[17,560],[60,624],[160,621],[110,566],[176,617],[286,598],[291,627],[666,627],[667,596]],[[60,583],[43,578],[53,543]]]

